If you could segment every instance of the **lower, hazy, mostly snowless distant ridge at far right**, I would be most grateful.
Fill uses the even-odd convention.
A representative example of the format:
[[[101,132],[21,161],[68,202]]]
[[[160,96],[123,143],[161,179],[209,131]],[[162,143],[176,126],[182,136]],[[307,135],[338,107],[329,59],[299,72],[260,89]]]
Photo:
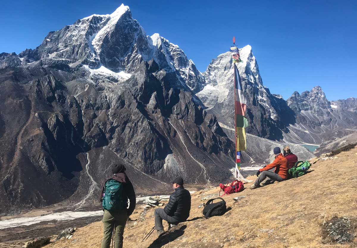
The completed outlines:
[[[288,126],[286,141],[325,144],[357,130],[354,98],[330,102],[322,88],[316,86],[301,95],[294,92],[287,104],[295,112],[296,123]]]

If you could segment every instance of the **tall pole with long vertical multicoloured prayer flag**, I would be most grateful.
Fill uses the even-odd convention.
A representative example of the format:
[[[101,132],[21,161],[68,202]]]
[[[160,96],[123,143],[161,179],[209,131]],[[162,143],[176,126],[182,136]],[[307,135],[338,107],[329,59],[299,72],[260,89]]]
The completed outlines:
[[[242,89],[242,80],[239,75],[236,63],[242,62],[238,48],[235,45],[233,37],[233,46],[231,47],[232,61],[234,68],[234,96],[235,96],[235,124],[236,124],[236,167],[240,169],[241,151],[247,149],[245,128],[248,126],[248,119],[245,117],[247,100]],[[237,172],[236,172],[237,173]]]

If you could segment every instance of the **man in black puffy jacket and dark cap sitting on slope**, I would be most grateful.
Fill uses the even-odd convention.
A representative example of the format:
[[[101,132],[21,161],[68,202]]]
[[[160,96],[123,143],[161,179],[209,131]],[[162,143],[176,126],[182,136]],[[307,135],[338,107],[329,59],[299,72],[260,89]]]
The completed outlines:
[[[169,224],[178,224],[190,216],[191,194],[183,188],[182,177],[176,177],[171,183],[175,192],[170,196],[169,203],[164,208],[155,209],[155,230],[158,235],[164,232],[163,219]]]

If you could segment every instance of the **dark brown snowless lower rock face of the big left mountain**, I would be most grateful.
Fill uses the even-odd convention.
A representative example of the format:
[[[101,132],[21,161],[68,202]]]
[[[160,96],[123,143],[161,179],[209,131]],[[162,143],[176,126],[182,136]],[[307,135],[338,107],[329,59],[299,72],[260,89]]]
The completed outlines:
[[[187,183],[230,177],[233,143],[190,92],[176,87],[176,72],[152,72],[155,64],[143,62],[118,82],[93,77],[85,66],[2,69],[1,207],[96,197],[116,162],[126,165],[138,193],[167,189],[147,174],[179,174]]]

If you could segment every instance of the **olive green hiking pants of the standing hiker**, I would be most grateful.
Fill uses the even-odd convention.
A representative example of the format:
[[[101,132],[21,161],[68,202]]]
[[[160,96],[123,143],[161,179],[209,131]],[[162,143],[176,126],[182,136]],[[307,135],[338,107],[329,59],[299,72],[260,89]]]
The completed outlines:
[[[126,221],[128,219],[128,213],[126,209],[116,213],[111,213],[107,210],[104,211],[103,225],[104,225],[104,237],[102,240],[102,248],[110,248],[110,242],[112,239],[113,229],[115,228],[115,248],[123,247],[123,233]]]

